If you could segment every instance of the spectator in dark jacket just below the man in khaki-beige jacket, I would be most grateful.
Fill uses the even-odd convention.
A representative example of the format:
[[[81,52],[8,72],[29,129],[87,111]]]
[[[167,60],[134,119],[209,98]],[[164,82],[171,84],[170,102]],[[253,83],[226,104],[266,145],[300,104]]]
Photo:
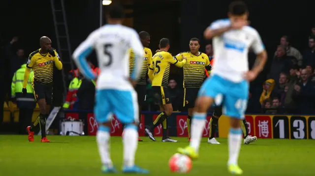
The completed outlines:
[[[288,73],[289,68],[292,68],[295,62],[295,58],[293,56],[287,56],[285,54],[285,49],[282,46],[278,46],[277,54],[275,55],[270,72],[268,75],[268,79],[274,79],[276,84],[279,82],[279,74],[281,72]]]

